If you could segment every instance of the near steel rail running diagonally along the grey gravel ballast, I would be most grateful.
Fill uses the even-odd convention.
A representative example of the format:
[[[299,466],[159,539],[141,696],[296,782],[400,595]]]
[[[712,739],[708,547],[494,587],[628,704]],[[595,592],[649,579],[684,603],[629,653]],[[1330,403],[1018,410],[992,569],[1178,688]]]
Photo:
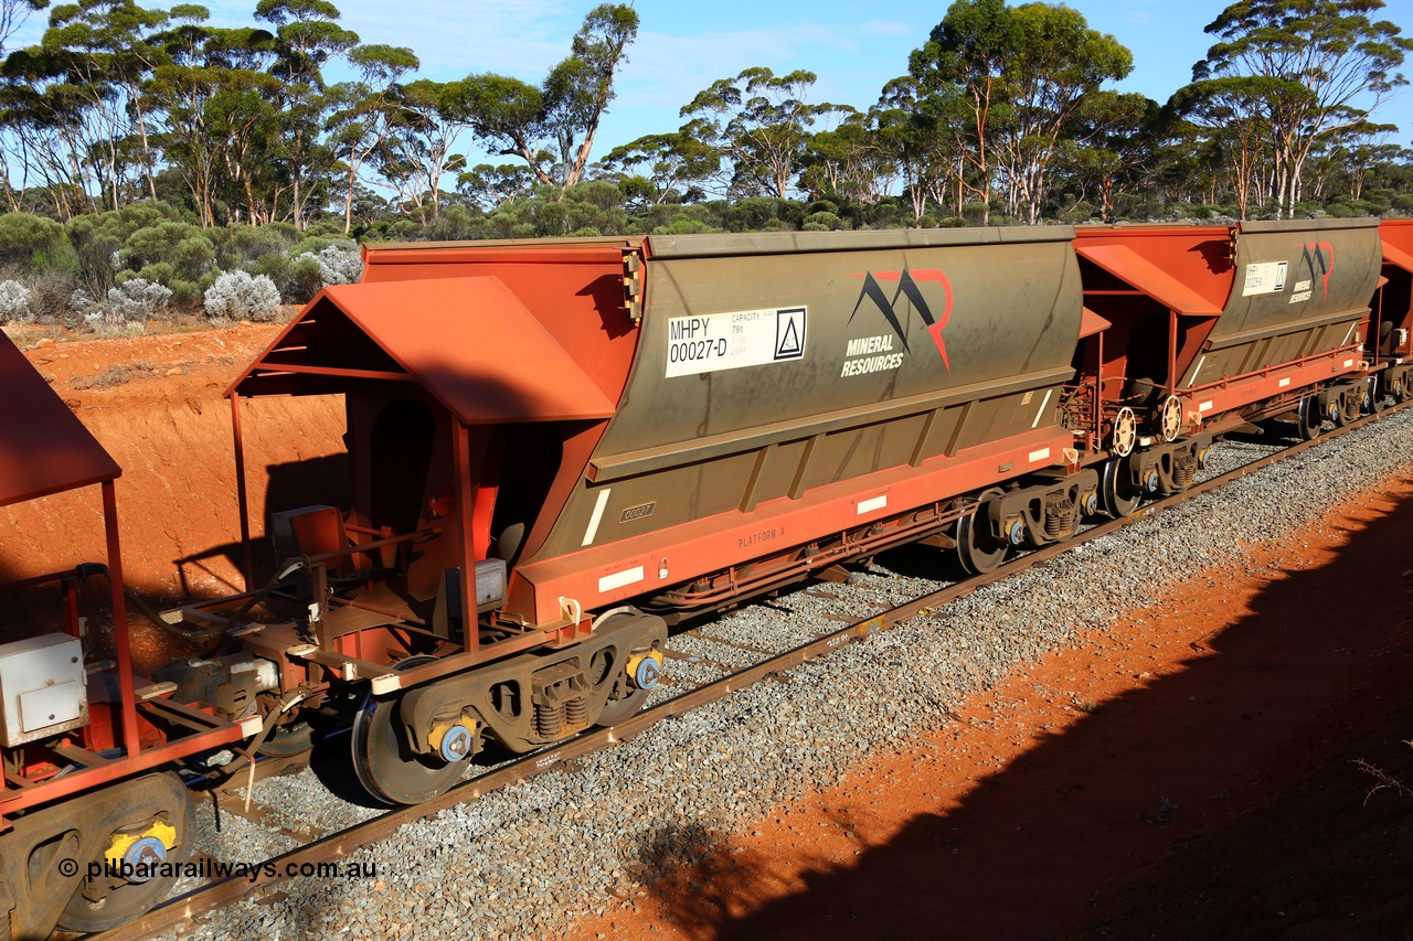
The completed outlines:
[[[851,619],[846,623],[841,622],[841,626],[836,630],[821,633],[818,637],[781,653],[766,653],[760,649],[746,650],[746,644],[733,643],[716,636],[716,632],[712,630],[712,622],[708,622],[695,634],[701,640],[709,641],[711,644],[726,644],[733,649],[742,649],[745,653],[766,653],[764,658],[756,660],[755,663],[739,668],[732,668],[721,661],[706,663],[705,665],[715,667],[716,671],[729,673],[721,678],[709,680],[702,685],[671,695],[633,718],[620,722],[615,728],[585,733],[571,742],[560,745],[558,747],[519,757],[495,767],[485,774],[468,779],[441,797],[428,803],[418,804],[415,807],[396,808],[346,829],[318,836],[288,852],[270,858],[259,868],[257,873],[242,873],[215,879],[203,886],[165,901],[141,918],[137,918],[100,937],[116,941],[119,938],[144,938],[162,931],[174,930],[203,913],[233,903],[252,893],[271,889],[288,877],[285,873],[295,873],[300,872],[301,868],[318,866],[319,863],[342,860],[362,848],[391,836],[404,824],[431,817],[438,811],[456,804],[475,801],[485,794],[552,770],[564,763],[572,762],[574,759],[608,749],[619,742],[639,735],[649,726],[661,722],[663,719],[678,716],[704,706],[752,684],[783,674],[784,671],[803,663],[824,657],[844,646],[868,640],[870,636],[901,625],[920,613],[947,605],[948,602],[969,595],[985,585],[991,585],[1027,568],[1053,560],[1071,548],[1104,538],[1105,535],[1116,533],[1132,523],[1157,516],[1164,510],[1173,509],[1198,495],[1218,489],[1236,478],[1249,475],[1279,461],[1289,459],[1311,448],[1320,448],[1330,439],[1364,428],[1371,422],[1376,422],[1382,417],[1388,417],[1406,408],[1409,404],[1413,403],[1390,407],[1381,415],[1365,417],[1356,422],[1327,432],[1316,441],[1294,444],[1275,454],[1243,463],[1232,470],[1195,483],[1183,493],[1143,506],[1130,517],[1092,526],[1070,541],[1017,557],[992,574],[969,578],[966,581],[941,588],[940,591],[927,592],[901,605],[877,610],[876,613],[870,613],[865,617]],[[828,589],[807,588],[804,591],[811,592],[815,596],[834,596],[834,593]],[[865,602],[865,605],[868,603],[869,602]],[[694,664],[705,663],[704,657],[698,654],[678,653],[677,657]],[[239,777],[242,776],[237,776],[237,779]]]

